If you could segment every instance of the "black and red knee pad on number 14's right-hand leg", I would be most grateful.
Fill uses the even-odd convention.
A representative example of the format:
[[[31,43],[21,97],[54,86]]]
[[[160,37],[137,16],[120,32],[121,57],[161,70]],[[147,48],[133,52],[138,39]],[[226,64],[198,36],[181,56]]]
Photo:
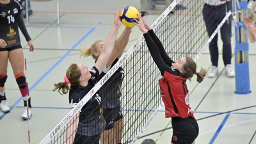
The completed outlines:
[[[17,81],[17,84],[20,88],[20,93],[24,100],[29,99],[29,91],[28,91],[28,83],[26,83],[26,77],[24,76],[24,73],[17,74],[15,76],[15,79]]]

